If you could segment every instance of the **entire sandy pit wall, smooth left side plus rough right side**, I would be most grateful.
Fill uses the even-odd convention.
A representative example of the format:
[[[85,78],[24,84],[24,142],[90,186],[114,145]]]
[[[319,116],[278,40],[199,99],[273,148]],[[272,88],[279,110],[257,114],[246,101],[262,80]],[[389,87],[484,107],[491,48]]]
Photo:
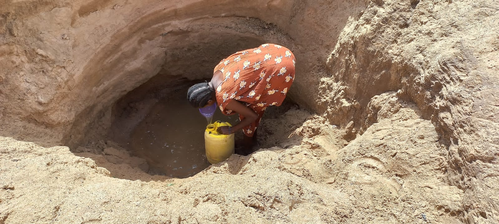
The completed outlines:
[[[343,128],[345,139],[364,134],[386,118],[378,116],[386,110],[396,113],[404,103],[416,105],[444,149],[439,165],[444,181],[464,194],[462,207],[442,210],[465,223],[497,221],[497,2],[2,5],[7,5],[0,8],[3,136],[76,145],[114,101],[168,68],[177,55],[196,46],[224,49],[224,34],[238,39],[224,53],[248,39],[279,42],[299,58],[297,74],[302,75],[290,96]],[[173,49],[170,56],[168,49]],[[181,74],[190,79],[208,75],[175,75]],[[388,109],[381,106],[385,103]]]

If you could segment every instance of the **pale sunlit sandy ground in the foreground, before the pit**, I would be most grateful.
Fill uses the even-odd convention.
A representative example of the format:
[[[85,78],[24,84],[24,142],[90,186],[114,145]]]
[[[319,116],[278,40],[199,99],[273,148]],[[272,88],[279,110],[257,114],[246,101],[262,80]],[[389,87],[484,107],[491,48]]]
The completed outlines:
[[[297,113],[306,114],[290,110],[284,120],[294,120]],[[433,125],[410,106],[342,149],[331,144],[346,143],[341,130],[318,125],[320,120],[313,117],[293,132],[304,137],[301,145],[233,155],[185,179],[149,176],[133,164],[111,160],[130,159],[112,148],[103,157],[116,164],[94,162],[85,153],[76,156],[66,147],[47,149],[2,138],[2,154],[8,155],[2,156],[1,168],[3,219],[397,224],[423,223],[425,214],[430,223],[459,222],[445,212],[459,211],[463,200],[461,190],[443,181],[445,149]],[[127,180],[133,177],[140,180]]]

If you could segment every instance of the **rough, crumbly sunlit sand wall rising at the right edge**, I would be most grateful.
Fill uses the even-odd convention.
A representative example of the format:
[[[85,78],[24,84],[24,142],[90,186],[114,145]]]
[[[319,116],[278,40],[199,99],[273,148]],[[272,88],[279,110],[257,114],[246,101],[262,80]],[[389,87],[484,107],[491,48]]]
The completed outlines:
[[[408,5],[410,3],[410,5]],[[430,120],[446,149],[445,180],[464,192],[468,223],[496,222],[499,153],[498,7],[493,1],[373,1],[348,23],[319,87],[326,116],[363,133],[382,92]],[[374,97],[373,97],[374,96]],[[392,101],[393,103],[393,101]],[[366,111],[366,105],[371,109]],[[396,106],[391,110],[398,110]],[[473,208],[473,209],[472,209]],[[473,211],[472,211],[473,210]]]

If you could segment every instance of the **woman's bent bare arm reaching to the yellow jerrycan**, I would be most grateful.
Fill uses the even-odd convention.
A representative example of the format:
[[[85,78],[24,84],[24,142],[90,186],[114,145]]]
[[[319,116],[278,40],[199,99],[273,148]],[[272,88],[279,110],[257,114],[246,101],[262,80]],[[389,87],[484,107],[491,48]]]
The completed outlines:
[[[243,119],[241,122],[239,122],[239,124],[235,125],[234,127],[231,127],[230,129],[231,133],[229,133],[229,127],[218,128],[217,131],[224,135],[235,133],[243,129],[244,127],[250,125],[251,122],[255,121],[258,118],[258,115],[253,110],[251,110],[249,107],[243,105],[241,102],[235,99],[230,99],[225,109],[235,111],[240,115],[243,115],[245,119]]]

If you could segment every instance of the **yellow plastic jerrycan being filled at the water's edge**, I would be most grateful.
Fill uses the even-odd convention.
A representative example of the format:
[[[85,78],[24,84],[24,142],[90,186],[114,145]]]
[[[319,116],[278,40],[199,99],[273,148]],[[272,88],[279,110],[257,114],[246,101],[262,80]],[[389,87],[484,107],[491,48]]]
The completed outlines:
[[[230,126],[229,122],[216,121],[209,124],[205,130],[206,158],[211,164],[226,160],[234,154],[234,133],[223,135],[217,132],[222,126]]]

